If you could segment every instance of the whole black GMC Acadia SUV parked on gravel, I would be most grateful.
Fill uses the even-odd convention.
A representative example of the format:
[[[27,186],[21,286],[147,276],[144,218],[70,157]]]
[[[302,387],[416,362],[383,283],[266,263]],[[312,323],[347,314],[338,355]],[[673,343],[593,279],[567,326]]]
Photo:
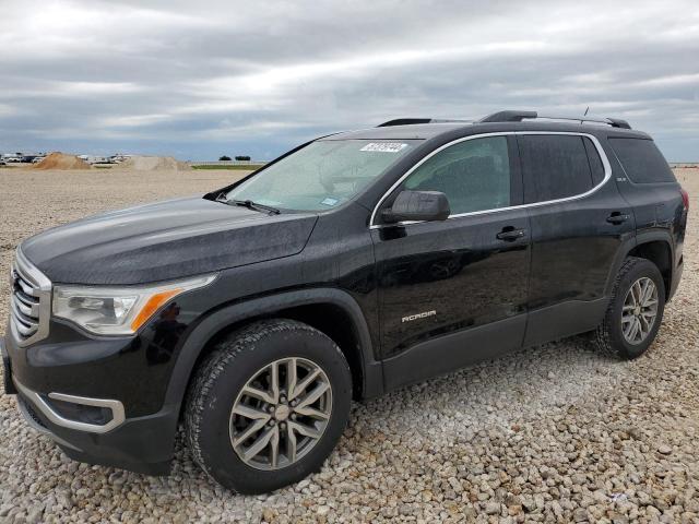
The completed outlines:
[[[318,471],[352,398],[593,332],[635,358],[687,193],[617,119],[501,111],[323,136],[226,188],[24,240],[5,391],[72,458],[222,485]]]

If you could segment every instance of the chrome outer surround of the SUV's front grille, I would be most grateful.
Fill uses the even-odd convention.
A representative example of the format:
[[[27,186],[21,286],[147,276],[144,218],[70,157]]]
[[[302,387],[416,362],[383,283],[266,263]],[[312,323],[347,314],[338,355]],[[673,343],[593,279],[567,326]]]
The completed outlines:
[[[17,247],[14,254],[14,261],[10,264],[11,294],[14,293],[12,289],[13,272],[16,272],[24,281],[35,286],[27,295],[36,297],[39,301],[37,310],[38,326],[36,332],[27,338],[23,338],[20,335],[15,325],[16,321],[12,319],[12,314],[10,315],[10,331],[12,332],[17,346],[25,347],[48,336],[48,326],[51,317],[51,281],[49,281],[44,273],[27,260],[22,252],[21,247]]]

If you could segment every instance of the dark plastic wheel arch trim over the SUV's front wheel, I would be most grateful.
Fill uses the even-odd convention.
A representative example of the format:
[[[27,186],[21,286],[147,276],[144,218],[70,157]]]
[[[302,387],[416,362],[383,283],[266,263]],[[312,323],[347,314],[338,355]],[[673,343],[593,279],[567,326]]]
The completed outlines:
[[[167,388],[166,404],[181,408],[197,366],[218,338],[256,320],[275,317],[305,322],[340,346],[352,370],[355,398],[381,394],[382,367],[375,358],[369,329],[359,306],[341,289],[312,288],[232,303],[203,317],[179,352]]]

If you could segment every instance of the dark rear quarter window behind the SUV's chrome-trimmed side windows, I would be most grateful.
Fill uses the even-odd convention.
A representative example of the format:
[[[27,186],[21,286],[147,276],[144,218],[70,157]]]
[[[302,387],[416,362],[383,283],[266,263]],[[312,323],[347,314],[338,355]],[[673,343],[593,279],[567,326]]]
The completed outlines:
[[[609,143],[633,182],[674,182],[675,176],[652,140],[609,139]]]

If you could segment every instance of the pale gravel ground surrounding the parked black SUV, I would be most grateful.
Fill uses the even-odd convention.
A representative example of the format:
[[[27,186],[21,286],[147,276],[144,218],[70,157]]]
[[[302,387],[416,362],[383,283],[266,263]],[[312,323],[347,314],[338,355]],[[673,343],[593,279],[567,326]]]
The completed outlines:
[[[2,169],[0,273],[29,234],[238,175]],[[223,490],[181,439],[169,477],[72,462],[2,395],[0,521],[699,522],[699,171],[678,177],[684,281],[638,360],[576,337],[357,404],[320,473],[259,497]],[[7,295],[3,277],[2,318]]]

